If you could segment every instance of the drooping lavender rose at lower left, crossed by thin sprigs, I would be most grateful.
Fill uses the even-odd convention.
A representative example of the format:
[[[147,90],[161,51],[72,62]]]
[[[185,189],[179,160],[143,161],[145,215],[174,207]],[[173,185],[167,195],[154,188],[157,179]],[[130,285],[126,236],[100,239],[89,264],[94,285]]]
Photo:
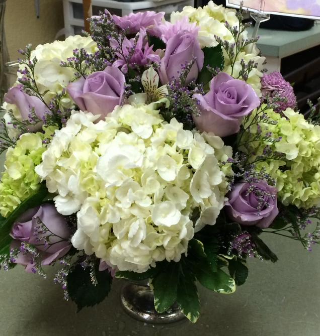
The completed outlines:
[[[49,265],[63,257],[71,248],[71,231],[65,218],[53,204],[43,204],[29,209],[14,224],[10,236],[14,239],[11,249],[20,249],[14,263],[24,265],[28,273],[36,272],[36,260],[26,249],[25,243],[36,248],[41,265]]]

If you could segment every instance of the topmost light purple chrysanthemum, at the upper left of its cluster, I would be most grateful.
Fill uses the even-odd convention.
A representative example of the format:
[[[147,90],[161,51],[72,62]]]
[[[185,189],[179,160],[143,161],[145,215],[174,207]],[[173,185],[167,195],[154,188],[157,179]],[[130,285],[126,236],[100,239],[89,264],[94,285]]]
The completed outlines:
[[[141,28],[146,29],[150,26],[159,24],[164,18],[164,12],[139,12],[139,13],[130,13],[124,17],[118,17],[113,15],[112,19],[114,23],[123,30],[126,30],[128,34],[135,34]]]

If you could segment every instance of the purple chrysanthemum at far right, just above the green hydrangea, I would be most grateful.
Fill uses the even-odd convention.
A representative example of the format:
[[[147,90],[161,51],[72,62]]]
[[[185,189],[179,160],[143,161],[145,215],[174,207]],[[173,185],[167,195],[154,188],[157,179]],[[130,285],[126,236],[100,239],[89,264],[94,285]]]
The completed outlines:
[[[278,101],[274,104],[277,106],[275,110],[277,112],[284,111],[288,107],[294,108],[296,106],[296,96],[293,92],[293,88],[289,82],[287,82],[280,72],[272,72],[270,74],[264,74],[261,79],[262,95],[266,97],[278,97]]]

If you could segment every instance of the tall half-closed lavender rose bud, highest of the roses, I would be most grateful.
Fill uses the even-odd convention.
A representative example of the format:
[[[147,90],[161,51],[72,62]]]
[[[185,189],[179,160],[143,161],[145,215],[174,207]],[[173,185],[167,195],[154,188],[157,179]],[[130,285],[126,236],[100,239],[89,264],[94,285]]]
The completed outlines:
[[[171,37],[167,42],[165,56],[160,63],[161,82],[167,84],[173,78],[179,77],[183,67],[193,60],[195,61],[187,75],[186,84],[197,79],[203,67],[204,54],[196,34],[183,31]]]

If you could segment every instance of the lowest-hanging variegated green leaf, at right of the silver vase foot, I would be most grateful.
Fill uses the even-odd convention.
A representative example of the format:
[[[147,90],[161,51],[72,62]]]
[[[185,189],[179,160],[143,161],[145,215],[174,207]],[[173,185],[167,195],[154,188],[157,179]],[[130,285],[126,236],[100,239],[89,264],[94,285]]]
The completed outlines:
[[[183,314],[192,322],[195,323],[200,315],[200,301],[198,296],[196,278],[185,264],[183,273],[179,277],[177,303]]]

